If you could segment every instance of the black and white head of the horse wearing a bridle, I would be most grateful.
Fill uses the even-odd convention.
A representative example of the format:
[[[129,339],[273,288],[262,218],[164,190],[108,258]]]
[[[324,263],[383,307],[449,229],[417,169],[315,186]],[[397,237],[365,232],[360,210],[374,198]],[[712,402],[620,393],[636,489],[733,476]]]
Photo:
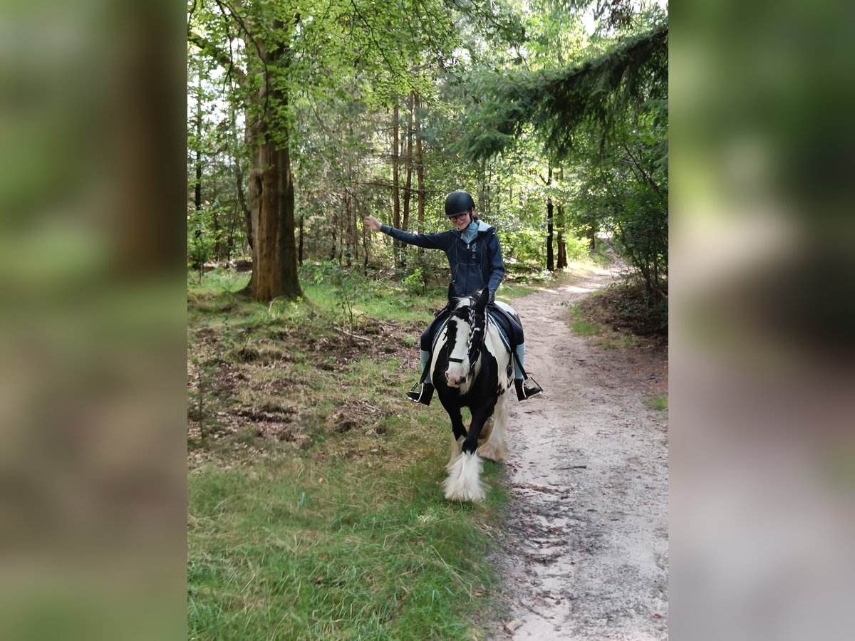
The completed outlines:
[[[448,369],[445,380],[450,387],[460,387],[471,381],[481,355],[486,332],[486,304],[490,291],[486,287],[477,297],[454,300],[454,309],[446,326],[445,344],[448,348]]]

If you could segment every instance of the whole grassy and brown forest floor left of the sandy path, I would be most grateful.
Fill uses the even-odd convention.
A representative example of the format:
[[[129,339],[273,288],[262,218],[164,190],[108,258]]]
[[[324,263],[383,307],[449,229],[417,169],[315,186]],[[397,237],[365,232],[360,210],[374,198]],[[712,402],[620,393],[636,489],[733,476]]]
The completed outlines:
[[[188,278],[188,638],[481,638],[508,494],[448,503],[445,411],[405,401],[445,291],[239,297]]]

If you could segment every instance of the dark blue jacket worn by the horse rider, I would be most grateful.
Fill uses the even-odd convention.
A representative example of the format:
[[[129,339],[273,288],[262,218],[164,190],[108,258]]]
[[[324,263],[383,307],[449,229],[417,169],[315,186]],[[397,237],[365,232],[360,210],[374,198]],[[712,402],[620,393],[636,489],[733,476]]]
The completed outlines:
[[[502,247],[498,244],[496,228],[478,221],[478,232],[471,243],[463,240],[463,232],[450,229],[439,233],[410,233],[388,225],[380,232],[406,244],[415,244],[428,250],[443,250],[451,267],[451,294],[471,296],[482,287],[496,293],[504,279]]]

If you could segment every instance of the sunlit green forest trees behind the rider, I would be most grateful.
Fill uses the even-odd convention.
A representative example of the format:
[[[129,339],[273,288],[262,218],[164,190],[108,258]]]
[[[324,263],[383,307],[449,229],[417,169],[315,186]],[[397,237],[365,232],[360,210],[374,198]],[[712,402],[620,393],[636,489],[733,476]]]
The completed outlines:
[[[257,301],[319,269],[427,287],[445,256],[376,236],[447,226],[470,191],[508,279],[581,256],[667,309],[667,5],[633,0],[193,0],[188,267]],[[307,270],[309,272],[307,273]],[[667,315],[667,311],[665,312]]]

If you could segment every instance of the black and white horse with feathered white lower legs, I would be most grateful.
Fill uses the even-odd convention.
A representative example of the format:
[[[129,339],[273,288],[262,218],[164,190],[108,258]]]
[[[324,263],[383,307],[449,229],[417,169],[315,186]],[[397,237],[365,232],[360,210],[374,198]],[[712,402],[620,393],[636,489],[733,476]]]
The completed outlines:
[[[451,299],[451,314],[433,348],[431,381],[451,418],[451,461],[444,483],[451,501],[482,501],[481,459],[505,460],[510,351],[486,314],[489,296],[485,288],[477,297]],[[509,305],[497,304],[514,313]],[[468,432],[463,407],[472,415]],[[479,438],[486,440],[480,447]]]

